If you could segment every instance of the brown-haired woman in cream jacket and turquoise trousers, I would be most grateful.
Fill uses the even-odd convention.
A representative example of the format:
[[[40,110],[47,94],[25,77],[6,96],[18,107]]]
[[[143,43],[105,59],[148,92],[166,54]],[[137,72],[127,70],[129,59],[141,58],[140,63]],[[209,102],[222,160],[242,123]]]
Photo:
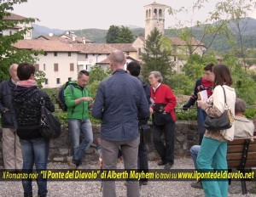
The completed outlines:
[[[216,65],[213,69],[214,82],[213,93],[207,100],[198,101],[198,106],[211,117],[219,117],[224,112],[224,91],[227,104],[233,115],[235,114],[236,92],[230,87],[232,78],[226,65]],[[222,88],[224,87],[224,89]],[[197,157],[197,168],[201,172],[214,172],[216,170],[227,171],[227,141],[234,139],[234,125],[230,129],[220,131],[206,131],[201,143],[201,149]],[[229,183],[226,180],[202,179],[202,185],[207,197],[228,196]]]

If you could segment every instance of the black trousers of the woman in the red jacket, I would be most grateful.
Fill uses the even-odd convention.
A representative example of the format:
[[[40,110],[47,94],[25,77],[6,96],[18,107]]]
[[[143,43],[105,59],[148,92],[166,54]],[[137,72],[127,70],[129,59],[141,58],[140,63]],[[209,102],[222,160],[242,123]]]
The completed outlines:
[[[175,122],[166,125],[153,124],[154,147],[161,159],[172,165],[174,163],[174,132]],[[161,140],[162,133],[165,134],[166,145]]]

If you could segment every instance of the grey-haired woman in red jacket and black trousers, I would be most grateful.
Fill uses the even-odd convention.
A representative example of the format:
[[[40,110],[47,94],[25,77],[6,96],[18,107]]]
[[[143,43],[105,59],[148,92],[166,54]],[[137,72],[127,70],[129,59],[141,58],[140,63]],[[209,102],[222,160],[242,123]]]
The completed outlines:
[[[166,165],[165,169],[170,169],[174,162],[174,132],[176,116],[174,108],[176,97],[172,89],[162,84],[163,77],[159,71],[152,71],[148,77],[151,98],[154,104],[150,108],[153,122],[154,147],[159,153],[161,160],[159,166]],[[161,134],[165,134],[166,145],[161,140]]]

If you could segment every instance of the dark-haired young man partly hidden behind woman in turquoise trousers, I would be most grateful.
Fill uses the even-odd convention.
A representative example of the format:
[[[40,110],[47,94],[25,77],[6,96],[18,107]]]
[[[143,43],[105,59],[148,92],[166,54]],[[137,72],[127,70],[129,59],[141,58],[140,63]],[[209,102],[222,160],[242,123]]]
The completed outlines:
[[[196,80],[194,93],[189,98],[188,103],[183,105],[183,110],[188,110],[192,105],[195,104],[195,101],[198,98],[197,93],[203,90],[207,90],[208,98],[212,95],[212,84],[214,80],[213,67],[214,67],[213,64],[209,64],[206,67],[204,67],[204,70],[205,70],[204,76]],[[199,134],[199,145],[201,145],[201,140],[206,132],[206,129],[204,127],[206,118],[207,118],[207,113],[204,110],[201,110],[201,108],[197,107],[197,127],[198,127],[198,134]]]

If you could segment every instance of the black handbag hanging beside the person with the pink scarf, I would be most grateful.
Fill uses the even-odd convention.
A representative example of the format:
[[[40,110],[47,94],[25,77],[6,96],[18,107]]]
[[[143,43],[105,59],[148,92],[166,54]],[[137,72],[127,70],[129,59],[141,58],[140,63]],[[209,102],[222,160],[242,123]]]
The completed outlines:
[[[59,138],[61,135],[61,122],[44,106],[44,100],[41,100],[40,133],[47,139]]]

